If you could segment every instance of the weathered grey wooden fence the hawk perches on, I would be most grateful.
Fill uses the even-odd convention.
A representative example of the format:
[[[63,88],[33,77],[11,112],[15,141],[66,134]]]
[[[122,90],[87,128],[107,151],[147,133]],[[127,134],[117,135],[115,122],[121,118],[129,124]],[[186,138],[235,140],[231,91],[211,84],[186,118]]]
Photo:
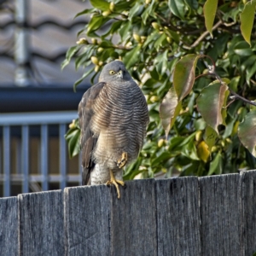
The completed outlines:
[[[252,256],[256,171],[0,199],[0,255]]]

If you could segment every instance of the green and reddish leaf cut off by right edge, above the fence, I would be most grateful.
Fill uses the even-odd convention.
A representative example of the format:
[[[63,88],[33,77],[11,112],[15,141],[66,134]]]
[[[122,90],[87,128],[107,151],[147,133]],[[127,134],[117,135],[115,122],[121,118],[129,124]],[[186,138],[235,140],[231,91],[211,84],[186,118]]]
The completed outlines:
[[[238,126],[238,137],[254,157],[256,157],[256,110],[247,113]]]

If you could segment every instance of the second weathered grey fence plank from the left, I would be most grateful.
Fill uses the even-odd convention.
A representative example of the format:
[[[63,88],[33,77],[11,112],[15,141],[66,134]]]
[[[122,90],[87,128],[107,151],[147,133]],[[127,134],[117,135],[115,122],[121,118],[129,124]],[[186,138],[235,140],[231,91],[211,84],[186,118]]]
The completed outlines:
[[[18,195],[20,255],[64,255],[61,190]]]

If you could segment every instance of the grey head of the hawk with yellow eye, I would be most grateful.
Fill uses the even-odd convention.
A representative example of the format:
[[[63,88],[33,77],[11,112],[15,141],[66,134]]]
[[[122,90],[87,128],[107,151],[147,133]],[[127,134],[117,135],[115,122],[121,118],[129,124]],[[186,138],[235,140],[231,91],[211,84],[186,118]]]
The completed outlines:
[[[131,75],[122,61],[111,61],[105,65],[100,74],[99,82],[124,82],[131,80]]]

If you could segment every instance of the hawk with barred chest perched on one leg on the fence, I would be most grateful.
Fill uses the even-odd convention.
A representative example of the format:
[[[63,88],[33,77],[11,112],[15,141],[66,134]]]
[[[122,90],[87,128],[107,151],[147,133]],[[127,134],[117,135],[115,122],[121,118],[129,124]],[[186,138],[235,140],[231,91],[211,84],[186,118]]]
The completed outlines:
[[[79,103],[83,185],[124,186],[122,168],[136,160],[148,125],[142,90],[122,61],[102,69],[98,84]]]

